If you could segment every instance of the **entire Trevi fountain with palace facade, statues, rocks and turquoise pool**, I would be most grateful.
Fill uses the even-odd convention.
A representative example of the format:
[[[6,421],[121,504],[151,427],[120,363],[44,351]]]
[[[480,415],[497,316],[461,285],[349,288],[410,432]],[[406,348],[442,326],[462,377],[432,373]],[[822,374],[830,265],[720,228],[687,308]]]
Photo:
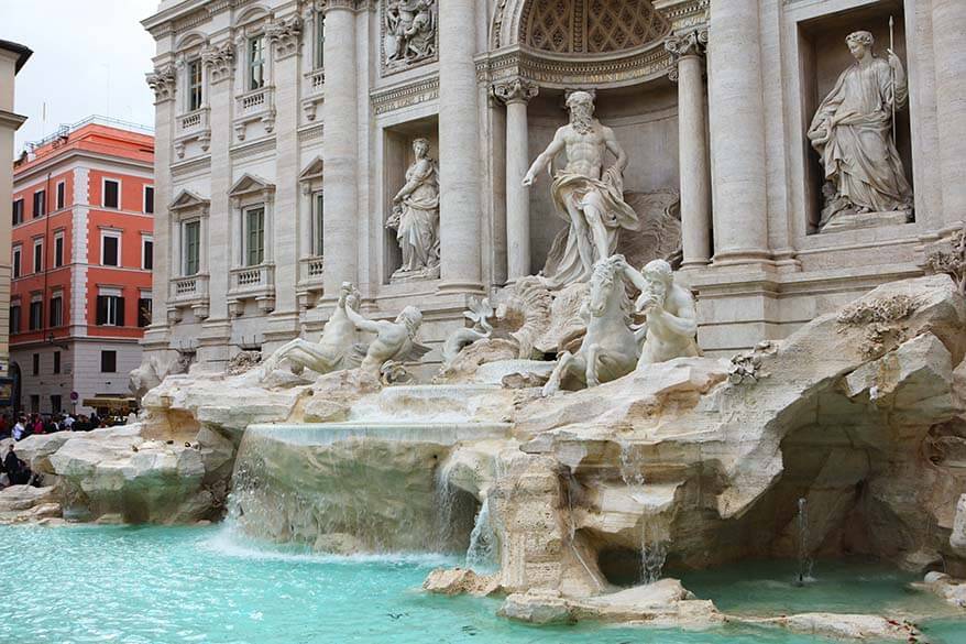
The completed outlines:
[[[240,131],[277,170],[230,203],[274,195],[271,294],[218,287],[212,251],[178,299],[172,250],[136,421],[17,444],[44,487],[0,492],[0,641],[966,642],[959,2],[270,4],[145,26],[163,63],[209,25],[213,249],[245,58],[216,28],[267,24],[277,105]],[[322,105],[287,106],[322,19]],[[428,94],[363,118],[370,74]],[[287,294],[289,107],[326,122],[326,263]],[[347,170],[370,127],[378,179]],[[176,231],[196,171],[165,150]]]

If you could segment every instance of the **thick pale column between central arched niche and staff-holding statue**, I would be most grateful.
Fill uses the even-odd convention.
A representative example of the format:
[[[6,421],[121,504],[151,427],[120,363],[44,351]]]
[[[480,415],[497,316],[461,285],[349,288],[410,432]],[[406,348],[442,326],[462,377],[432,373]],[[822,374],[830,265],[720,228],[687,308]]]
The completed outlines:
[[[707,85],[716,264],[769,256],[758,24],[758,0],[711,3]]]

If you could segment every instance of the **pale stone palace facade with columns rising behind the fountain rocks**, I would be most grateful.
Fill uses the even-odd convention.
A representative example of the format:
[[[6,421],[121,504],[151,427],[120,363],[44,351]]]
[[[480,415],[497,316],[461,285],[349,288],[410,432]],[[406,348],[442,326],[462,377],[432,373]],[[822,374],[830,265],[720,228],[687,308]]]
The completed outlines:
[[[960,0],[164,0],[144,26],[158,205],[144,346],[212,369],[315,337],[343,282],[369,317],[418,305],[438,348],[473,298],[539,272],[568,221],[546,176],[522,179],[573,90],[627,153],[628,203],[674,196],[678,275],[712,354],[920,274],[966,214]],[[911,190],[888,211],[846,194],[843,101],[813,124],[826,97],[853,96],[856,32],[898,59],[869,108]],[[438,222],[404,258],[415,175]]]

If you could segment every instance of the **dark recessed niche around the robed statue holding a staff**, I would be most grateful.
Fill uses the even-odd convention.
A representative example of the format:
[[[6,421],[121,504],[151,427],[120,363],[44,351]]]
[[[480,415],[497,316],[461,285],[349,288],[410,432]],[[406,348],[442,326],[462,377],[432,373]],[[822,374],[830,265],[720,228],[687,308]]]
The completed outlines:
[[[830,2],[830,6],[837,4]],[[808,217],[808,233],[819,232],[819,223],[822,217],[823,195],[822,188],[825,183],[824,172],[820,162],[819,153],[810,144],[805,132],[822,100],[832,91],[842,74],[848,66],[855,63],[848,46],[846,36],[856,31],[868,31],[875,39],[874,52],[876,56],[887,58],[889,48],[889,17],[894,20],[894,51],[902,61],[907,77],[909,76],[909,57],[905,50],[905,21],[901,0],[882,0],[875,4],[852,9],[841,12],[827,13],[819,18],[802,21],[798,24],[799,51],[801,53],[802,74],[802,118],[800,127],[802,133],[802,146],[805,159],[805,216]],[[905,178],[912,185],[912,144],[910,138],[911,107],[896,112],[896,148],[902,160]],[[911,215],[914,217],[914,214]],[[912,218],[910,217],[910,221]],[[871,223],[869,227],[889,225],[898,221],[901,217],[883,219],[880,223]],[[900,221],[901,222],[901,221]]]

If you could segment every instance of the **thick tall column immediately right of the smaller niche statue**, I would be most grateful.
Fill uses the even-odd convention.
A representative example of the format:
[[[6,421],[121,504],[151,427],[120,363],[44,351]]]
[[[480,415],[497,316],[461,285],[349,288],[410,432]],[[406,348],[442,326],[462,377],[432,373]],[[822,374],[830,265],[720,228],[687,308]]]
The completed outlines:
[[[439,3],[441,291],[483,287],[475,15],[474,0]]]

